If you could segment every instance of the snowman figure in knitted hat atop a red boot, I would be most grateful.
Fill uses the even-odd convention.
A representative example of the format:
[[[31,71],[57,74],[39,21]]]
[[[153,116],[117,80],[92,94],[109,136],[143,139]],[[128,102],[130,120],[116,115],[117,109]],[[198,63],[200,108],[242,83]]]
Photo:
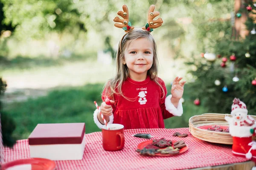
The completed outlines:
[[[256,121],[247,115],[244,102],[233,100],[231,116],[225,116],[229,123],[230,135],[233,136],[232,152],[235,156],[256,160],[256,142],[254,141]]]

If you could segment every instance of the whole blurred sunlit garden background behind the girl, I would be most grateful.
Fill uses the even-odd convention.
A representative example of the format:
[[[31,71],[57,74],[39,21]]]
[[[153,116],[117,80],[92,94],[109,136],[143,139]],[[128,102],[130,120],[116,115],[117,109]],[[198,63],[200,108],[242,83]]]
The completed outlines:
[[[101,103],[103,85],[116,71],[114,58],[124,31],[114,27],[113,19],[123,4],[136,28],[145,26],[149,6],[156,6],[164,21],[152,32],[160,59],[159,77],[169,93],[176,76],[187,81],[184,113],[165,120],[166,128],[188,127],[189,118],[197,114],[229,113],[234,94],[227,98],[226,110],[218,108],[218,103],[204,105],[212,100],[207,93],[227,95],[222,91],[224,84],[219,91],[205,90],[207,83],[217,86],[219,73],[203,82],[193,71],[198,63],[207,67],[202,71],[209,71],[213,64],[229,71],[221,68],[221,58],[217,61],[216,46],[232,38],[238,12],[235,0],[0,0],[0,77],[7,84],[1,101],[3,112],[15,121],[15,139],[26,139],[38,123],[85,122],[86,133],[100,131],[93,122],[93,101]],[[228,58],[232,52],[226,48],[222,55]],[[216,59],[209,62],[201,53],[213,53]],[[253,52],[250,55],[255,57]],[[253,78],[247,80],[249,85]],[[195,105],[199,91],[201,104]],[[250,91],[255,96],[255,88]]]

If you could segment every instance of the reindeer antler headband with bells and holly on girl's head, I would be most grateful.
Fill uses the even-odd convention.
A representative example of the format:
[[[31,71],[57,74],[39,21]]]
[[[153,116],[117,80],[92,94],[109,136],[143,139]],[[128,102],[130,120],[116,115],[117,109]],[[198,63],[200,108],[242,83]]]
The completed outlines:
[[[129,31],[133,30],[134,27],[131,26],[131,22],[129,21],[129,13],[128,13],[127,6],[123,5],[122,8],[123,8],[123,11],[118,11],[117,14],[120,17],[122,17],[123,20],[120,19],[119,17],[115,17],[115,19],[114,19],[114,21],[116,22],[115,26],[117,28],[122,28],[123,30],[125,30],[126,33],[128,33]],[[145,29],[148,32],[152,32],[154,30],[154,28],[158,28],[158,27],[162,26],[162,23],[163,23],[162,18],[158,18],[157,20],[153,20],[155,17],[157,17],[160,14],[159,11],[154,11],[154,8],[155,8],[154,5],[151,5],[149,7],[148,23],[144,27],[142,27],[142,29]],[[122,23],[122,24],[117,24],[117,23]],[[125,34],[123,35],[123,37],[125,37]],[[120,41],[120,44],[119,44],[120,51],[121,51],[121,43],[122,43],[123,37],[122,37],[122,39]]]

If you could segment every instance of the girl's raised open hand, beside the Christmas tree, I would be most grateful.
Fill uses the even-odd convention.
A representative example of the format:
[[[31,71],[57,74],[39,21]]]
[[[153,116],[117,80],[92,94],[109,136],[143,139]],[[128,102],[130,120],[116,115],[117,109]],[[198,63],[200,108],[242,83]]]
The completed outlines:
[[[176,77],[172,82],[171,94],[175,99],[180,99],[183,95],[183,87],[186,81],[180,82],[182,77]]]

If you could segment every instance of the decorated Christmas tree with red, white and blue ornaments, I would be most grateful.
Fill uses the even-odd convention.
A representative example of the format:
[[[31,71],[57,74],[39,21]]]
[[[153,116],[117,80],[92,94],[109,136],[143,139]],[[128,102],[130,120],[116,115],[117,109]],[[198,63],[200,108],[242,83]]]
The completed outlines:
[[[256,2],[235,1],[234,22],[230,34],[187,62],[195,79],[191,83],[195,105],[209,113],[230,113],[233,99],[247,105],[248,114],[256,115]],[[232,22],[232,20],[231,20]]]

